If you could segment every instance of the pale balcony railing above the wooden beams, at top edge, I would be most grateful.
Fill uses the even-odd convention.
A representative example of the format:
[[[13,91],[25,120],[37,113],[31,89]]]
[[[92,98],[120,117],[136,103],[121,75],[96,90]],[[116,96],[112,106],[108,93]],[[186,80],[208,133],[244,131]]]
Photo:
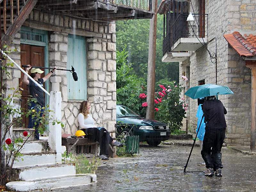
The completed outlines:
[[[110,0],[109,2],[151,11],[152,0]]]

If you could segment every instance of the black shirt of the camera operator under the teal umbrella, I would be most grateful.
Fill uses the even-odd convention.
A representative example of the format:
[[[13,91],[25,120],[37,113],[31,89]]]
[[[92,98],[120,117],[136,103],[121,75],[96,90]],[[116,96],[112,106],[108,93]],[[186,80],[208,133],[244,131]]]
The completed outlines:
[[[216,129],[227,127],[224,116],[227,114],[227,110],[220,100],[212,99],[204,101],[203,111],[207,127]]]

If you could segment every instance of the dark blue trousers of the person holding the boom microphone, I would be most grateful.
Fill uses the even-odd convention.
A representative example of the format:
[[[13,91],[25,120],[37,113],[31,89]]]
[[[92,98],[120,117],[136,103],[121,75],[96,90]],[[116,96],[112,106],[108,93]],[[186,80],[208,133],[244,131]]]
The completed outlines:
[[[39,105],[39,104],[36,104],[36,103],[34,103],[34,102],[31,102],[31,106],[28,107],[28,108],[29,108],[29,109],[35,109],[35,111],[36,111],[37,113],[39,113],[39,111],[41,111],[40,117],[43,116],[43,113],[44,113],[44,109],[42,109],[43,106],[41,106],[41,105]],[[28,120],[29,120],[29,122],[28,122],[28,128],[33,128],[33,127],[35,127],[35,139],[39,139],[38,127],[39,127],[39,124],[40,124],[40,118],[39,118],[38,120],[36,120],[36,119],[37,119],[37,117],[32,118],[32,115],[29,115],[29,116],[28,116]],[[35,123],[36,123],[36,125],[35,125]]]

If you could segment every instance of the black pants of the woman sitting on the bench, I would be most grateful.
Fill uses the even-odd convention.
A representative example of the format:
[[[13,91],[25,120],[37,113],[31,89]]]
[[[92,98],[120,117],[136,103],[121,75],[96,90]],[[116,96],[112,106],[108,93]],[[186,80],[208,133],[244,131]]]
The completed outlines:
[[[95,127],[81,130],[85,133],[85,138],[91,139],[94,142],[99,142],[100,155],[108,156],[108,144],[113,141],[113,138],[109,135],[109,132],[104,127]]]

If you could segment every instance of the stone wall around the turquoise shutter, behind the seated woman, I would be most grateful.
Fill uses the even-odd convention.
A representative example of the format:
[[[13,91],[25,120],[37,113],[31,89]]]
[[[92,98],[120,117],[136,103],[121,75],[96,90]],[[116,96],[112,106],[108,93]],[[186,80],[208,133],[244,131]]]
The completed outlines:
[[[114,22],[78,19],[67,15],[50,14],[34,9],[24,25],[49,31],[49,67],[67,68],[68,34],[86,37],[87,99],[96,126],[103,126],[115,137],[116,124],[116,28]],[[18,51],[12,55],[20,64],[20,36],[16,35],[14,46]],[[16,43],[17,41],[17,43]],[[16,74],[12,69],[11,74]],[[15,71],[14,71],[15,70]],[[69,73],[69,72],[68,72]],[[12,84],[19,84],[20,73],[11,76]],[[17,82],[16,82],[17,81]],[[62,133],[75,134],[78,129],[76,117],[82,100],[68,100],[67,71],[57,70],[49,79],[51,91],[62,93]],[[97,98],[97,100],[96,100]]]

